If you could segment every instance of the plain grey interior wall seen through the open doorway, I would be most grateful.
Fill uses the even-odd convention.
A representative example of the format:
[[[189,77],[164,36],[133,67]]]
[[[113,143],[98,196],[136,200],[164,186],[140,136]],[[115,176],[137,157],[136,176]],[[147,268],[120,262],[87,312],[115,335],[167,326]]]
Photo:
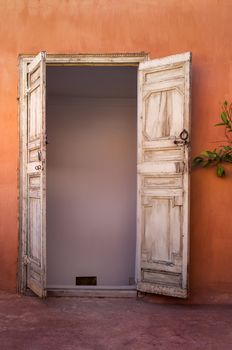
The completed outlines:
[[[98,285],[128,285],[135,272],[136,98],[48,95],[47,134],[47,284],[97,276]]]

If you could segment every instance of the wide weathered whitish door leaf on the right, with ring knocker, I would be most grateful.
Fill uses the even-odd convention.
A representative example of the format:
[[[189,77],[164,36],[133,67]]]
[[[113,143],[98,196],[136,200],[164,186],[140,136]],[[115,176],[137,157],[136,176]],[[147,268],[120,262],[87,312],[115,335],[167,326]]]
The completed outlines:
[[[139,291],[187,297],[191,53],[138,73]]]

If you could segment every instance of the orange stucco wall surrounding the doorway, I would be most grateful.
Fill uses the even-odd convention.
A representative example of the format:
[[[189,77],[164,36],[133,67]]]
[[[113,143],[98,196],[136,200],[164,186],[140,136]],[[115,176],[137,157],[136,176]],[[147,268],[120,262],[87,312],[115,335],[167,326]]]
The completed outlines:
[[[0,289],[16,289],[18,247],[18,55],[192,51],[192,153],[223,131],[220,103],[232,99],[230,0],[0,1]],[[232,298],[232,170],[191,182],[191,302]]]

